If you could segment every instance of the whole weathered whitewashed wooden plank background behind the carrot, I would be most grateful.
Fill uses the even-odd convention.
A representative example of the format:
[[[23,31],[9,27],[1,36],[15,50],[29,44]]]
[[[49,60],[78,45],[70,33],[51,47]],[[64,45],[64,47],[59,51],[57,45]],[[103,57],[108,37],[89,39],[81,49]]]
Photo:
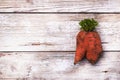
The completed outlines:
[[[95,18],[103,55],[73,65],[79,21]],[[0,0],[0,80],[120,80],[120,0]]]

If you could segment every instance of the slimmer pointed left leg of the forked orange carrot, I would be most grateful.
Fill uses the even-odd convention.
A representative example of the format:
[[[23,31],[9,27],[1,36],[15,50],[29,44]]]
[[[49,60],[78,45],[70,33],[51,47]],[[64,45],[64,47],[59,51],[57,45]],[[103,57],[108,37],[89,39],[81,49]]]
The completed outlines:
[[[74,65],[78,63],[82,58],[85,56],[85,45],[84,45],[84,38],[86,32],[80,31],[76,37],[76,53],[75,53],[75,60]]]

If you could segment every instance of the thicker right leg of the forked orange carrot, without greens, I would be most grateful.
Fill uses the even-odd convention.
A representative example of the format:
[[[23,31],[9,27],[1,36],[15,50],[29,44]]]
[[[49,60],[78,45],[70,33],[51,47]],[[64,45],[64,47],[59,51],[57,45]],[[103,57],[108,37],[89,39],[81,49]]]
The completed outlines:
[[[86,58],[91,64],[95,64],[102,53],[99,34],[97,32],[88,32],[85,37],[85,42],[87,42]]]

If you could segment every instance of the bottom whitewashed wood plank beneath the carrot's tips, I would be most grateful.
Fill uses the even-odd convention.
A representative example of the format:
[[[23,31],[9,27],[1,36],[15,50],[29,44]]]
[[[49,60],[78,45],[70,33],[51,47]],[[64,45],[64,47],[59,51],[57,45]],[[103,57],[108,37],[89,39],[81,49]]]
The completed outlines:
[[[104,52],[99,62],[73,65],[75,52],[1,52],[0,78],[28,80],[119,80],[120,52]]]

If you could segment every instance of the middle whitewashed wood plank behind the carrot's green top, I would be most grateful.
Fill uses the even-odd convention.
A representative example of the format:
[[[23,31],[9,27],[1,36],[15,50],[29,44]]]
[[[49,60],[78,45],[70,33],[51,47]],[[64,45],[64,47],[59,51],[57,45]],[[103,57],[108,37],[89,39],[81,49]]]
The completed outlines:
[[[104,51],[120,50],[120,14],[0,14],[0,51],[75,51],[84,18],[99,22]]]

